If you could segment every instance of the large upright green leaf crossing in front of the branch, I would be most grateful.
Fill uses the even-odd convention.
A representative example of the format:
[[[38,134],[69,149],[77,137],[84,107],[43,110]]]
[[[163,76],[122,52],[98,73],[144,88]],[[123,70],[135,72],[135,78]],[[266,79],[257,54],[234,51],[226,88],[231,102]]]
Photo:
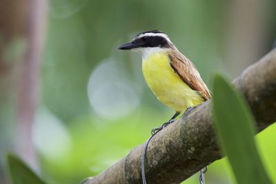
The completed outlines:
[[[213,92],[215,127],[237,183],[272,183],[257,152],[255,122],[248,105],[220,75],[215,76]]]

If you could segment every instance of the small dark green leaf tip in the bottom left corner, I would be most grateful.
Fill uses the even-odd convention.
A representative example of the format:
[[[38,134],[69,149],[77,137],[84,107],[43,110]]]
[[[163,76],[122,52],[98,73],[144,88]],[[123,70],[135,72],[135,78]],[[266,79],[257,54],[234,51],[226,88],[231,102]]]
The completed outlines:
[[[17,156],[8,154],[7,160],[13,184],[46,184]]]

